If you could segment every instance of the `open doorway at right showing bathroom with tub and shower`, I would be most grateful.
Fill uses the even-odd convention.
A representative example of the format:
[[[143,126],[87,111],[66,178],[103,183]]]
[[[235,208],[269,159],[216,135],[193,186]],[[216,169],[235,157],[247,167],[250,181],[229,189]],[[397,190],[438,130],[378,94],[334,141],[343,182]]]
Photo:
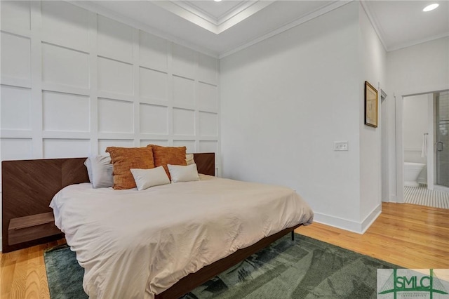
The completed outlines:
[[[449,208],[449,91],[403,98],[403,199]]]

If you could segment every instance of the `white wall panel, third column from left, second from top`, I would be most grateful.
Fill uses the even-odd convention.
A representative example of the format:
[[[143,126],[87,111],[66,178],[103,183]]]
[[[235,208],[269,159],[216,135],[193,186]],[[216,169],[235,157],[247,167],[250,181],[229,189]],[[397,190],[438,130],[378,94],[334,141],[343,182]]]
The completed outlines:
[[[98,58],[98,89],[110,93],[133,94],[133,66]]]

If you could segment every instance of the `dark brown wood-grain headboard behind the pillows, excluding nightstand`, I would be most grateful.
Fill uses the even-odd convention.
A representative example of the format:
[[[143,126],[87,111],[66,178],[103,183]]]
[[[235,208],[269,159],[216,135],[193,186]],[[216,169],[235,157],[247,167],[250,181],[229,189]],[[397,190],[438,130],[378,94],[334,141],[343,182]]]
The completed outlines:
[[[62,234],[20,244],[8,244],[11,219],[52,212],[48,206],[64,187],[89,182],[86,158],[36,159],[1,162],[2,250],[4,253],[60,239]],[[199,173],[215,175],[215,154],[194,154]]]

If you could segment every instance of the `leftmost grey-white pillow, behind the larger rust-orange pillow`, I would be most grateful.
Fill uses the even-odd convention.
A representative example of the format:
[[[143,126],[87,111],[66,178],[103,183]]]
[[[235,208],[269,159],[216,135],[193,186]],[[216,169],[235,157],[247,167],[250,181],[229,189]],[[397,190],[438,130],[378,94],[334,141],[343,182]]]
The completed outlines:
[[[107,156],[91,156],[84,161],[89,180],[94,188],[107,188],[114,185],[111,158]]]

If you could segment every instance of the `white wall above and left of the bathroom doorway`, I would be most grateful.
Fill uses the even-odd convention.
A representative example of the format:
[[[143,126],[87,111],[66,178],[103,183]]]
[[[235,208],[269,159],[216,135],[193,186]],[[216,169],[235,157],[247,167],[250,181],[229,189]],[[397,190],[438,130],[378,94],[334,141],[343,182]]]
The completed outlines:
[[[449,89],[449,37],[436,39],[424,44],[410,46],[387,53],[387,86],[389,95],[396,97],[396,102],[387,102],[389,112],[389,192],[390,201],[402,201],[403,180],[401,167],[403,161],[402,136],[403,95],[429,93]],[[397,176],[397,178],[396,178]]]

